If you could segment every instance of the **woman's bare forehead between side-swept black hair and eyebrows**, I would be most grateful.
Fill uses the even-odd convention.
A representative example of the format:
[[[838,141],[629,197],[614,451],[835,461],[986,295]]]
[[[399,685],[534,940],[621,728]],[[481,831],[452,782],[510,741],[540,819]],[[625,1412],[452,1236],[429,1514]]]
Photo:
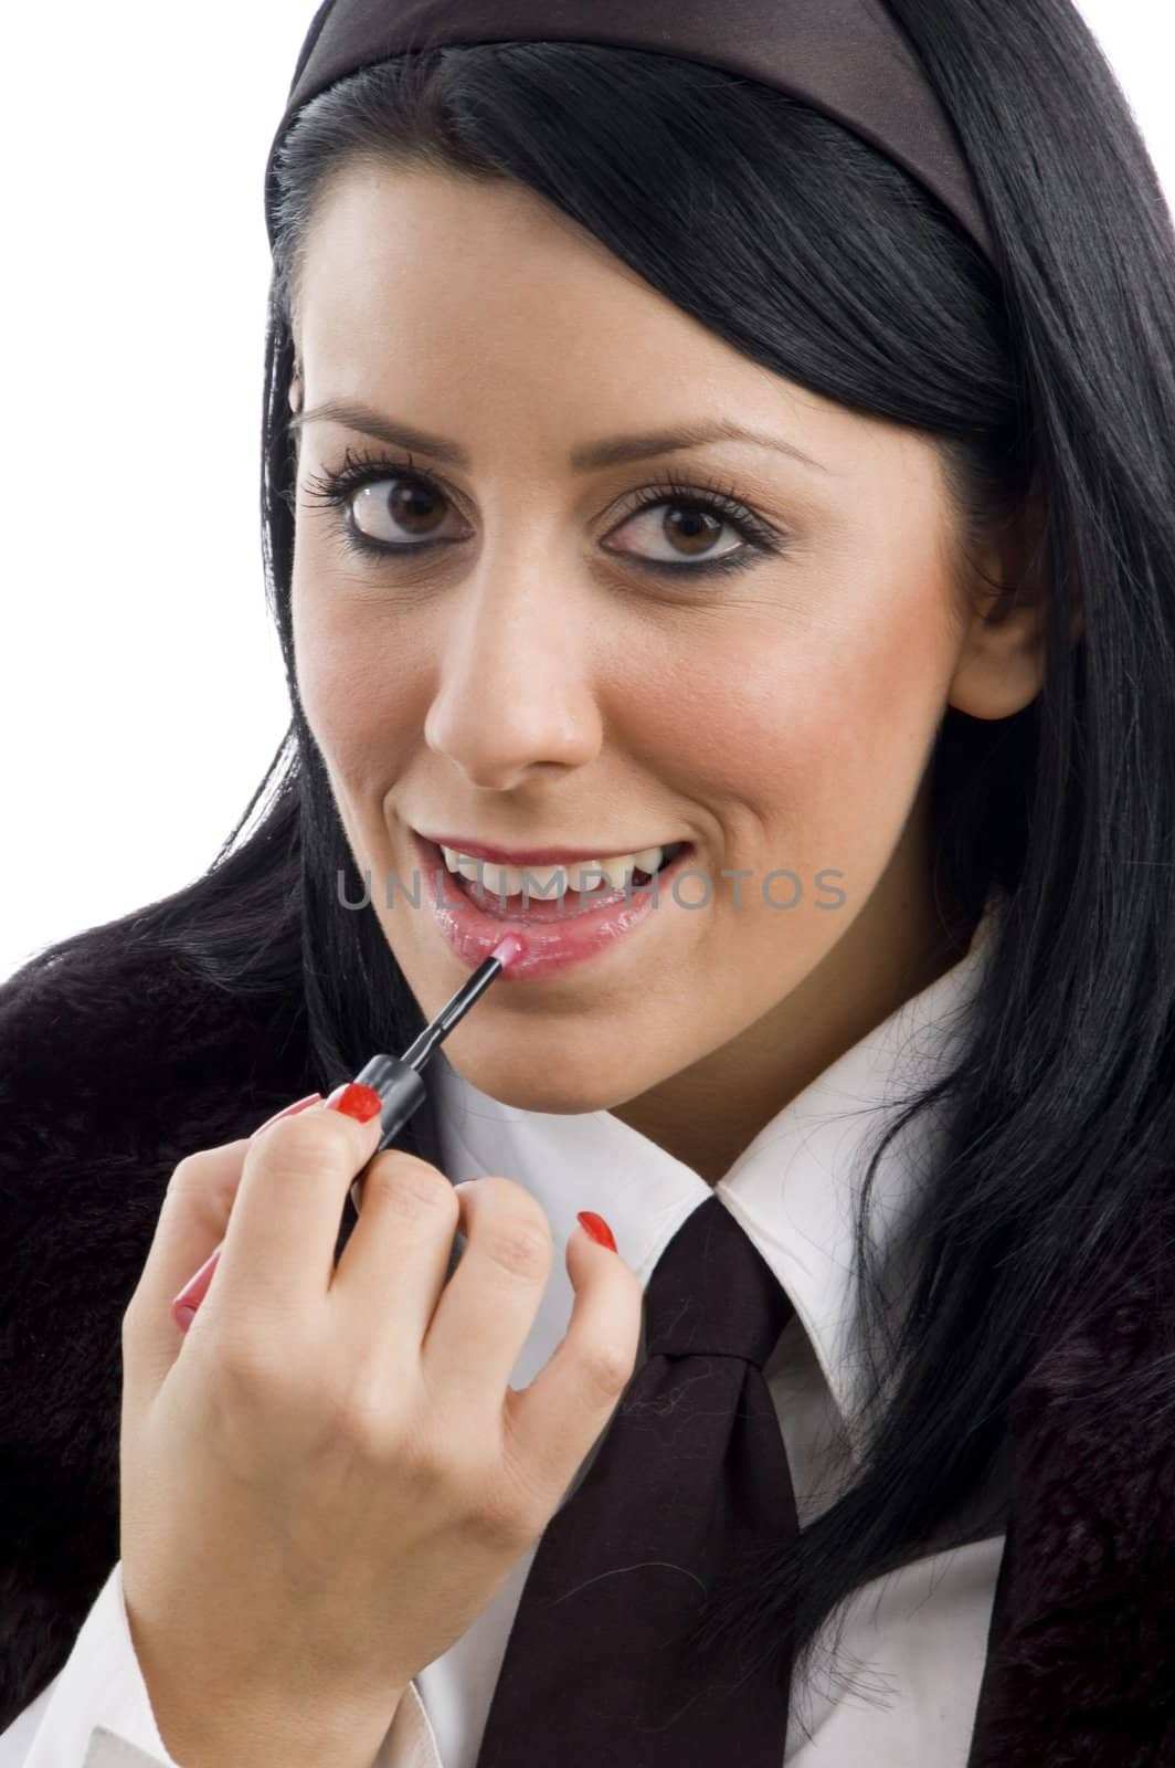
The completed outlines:
[[[392,164],[332,177],[295,332],[307,405],[362,401],[449,437],[488,419],[562,458],[576,438],[728,417],[841,477],[917,453],[908,431],[735,350],[512,180]]]

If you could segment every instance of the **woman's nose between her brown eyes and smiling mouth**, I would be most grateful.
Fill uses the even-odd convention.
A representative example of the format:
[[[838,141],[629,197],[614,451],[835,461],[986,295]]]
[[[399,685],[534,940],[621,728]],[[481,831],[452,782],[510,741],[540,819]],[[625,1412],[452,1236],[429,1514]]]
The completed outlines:
[[[565,576],[565,571],[564,571]],[[599,753],[590,610],[560,594],[548,560],[482,560],[445,608],[424,741],[475,787],[505,790],[539,767]]]

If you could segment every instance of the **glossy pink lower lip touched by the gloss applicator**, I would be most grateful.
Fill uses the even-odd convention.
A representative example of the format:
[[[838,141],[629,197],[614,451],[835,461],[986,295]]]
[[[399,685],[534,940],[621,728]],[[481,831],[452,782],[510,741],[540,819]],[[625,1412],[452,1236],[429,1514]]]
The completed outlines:
[[[558,976],[574,964],[583,964],[587,958],[617,946],[654,912],[652,884],[633,886],[627,895],[624,889],[611,891],[597,907],[583,911],[578,907],[578,893],[572,891],[571,900],[576,907],[569,909],[560,919],[530,921],[521,914],[504,916],[489,912],[459,889],[454,873],[445,866],[440,847],[433,845],[415,829],[410,833],[421,866],[422,898],[431,909],[442,937],[465,964],[472,969],[482,964],[504,934],[519,934],[525,941],[525,955],[502,972],[498,987],[502,983],[537,981],[544,976]],[[678,907],[671,893],[673,873],[687,865],[691,856],[693,843],[687,843],[668,866],[657,872],[656,912],[659,916],[670,914]],[[474,854],[472,857],[479,856]],[[436,888],[436,872],[443,875],[440,891]]]

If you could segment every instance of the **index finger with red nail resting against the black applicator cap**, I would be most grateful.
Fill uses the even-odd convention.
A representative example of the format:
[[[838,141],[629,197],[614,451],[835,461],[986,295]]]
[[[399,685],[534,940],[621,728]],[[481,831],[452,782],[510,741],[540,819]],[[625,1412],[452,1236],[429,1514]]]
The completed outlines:
[[[327,1298],[346,1190],[380,1140],[378,1107],[378,1093],[350,1082],[249,1142],[203,1308],[304,1321]]]

